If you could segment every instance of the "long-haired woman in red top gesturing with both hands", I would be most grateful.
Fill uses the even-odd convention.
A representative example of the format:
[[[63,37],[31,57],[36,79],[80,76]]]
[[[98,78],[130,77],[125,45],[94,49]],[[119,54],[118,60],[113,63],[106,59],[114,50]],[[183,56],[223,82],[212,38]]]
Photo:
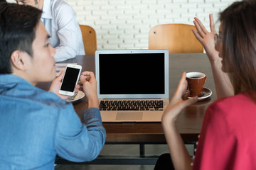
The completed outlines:
[[[195,18],[193,33],[210,60],[218,100],[206,111],[193,162],[175,126],[181,110],[198,100],[183,100],[187,86],[183,73],[162,117],[174,169],[256,169],[255,11],[256,1],[233,3],[220,13],[219,35],[212,15],[210,32]]]

